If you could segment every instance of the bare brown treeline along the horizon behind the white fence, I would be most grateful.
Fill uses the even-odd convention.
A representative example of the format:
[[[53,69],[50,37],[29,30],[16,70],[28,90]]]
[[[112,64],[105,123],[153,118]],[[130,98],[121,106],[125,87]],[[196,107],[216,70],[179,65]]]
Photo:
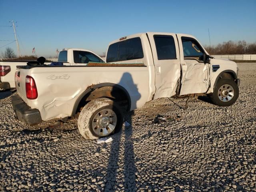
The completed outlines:
[[[247,43],[245,40],[238,42],[229,40],[215,46],[206,45],[204,48],[211,55],[256,54],[256,42]]]

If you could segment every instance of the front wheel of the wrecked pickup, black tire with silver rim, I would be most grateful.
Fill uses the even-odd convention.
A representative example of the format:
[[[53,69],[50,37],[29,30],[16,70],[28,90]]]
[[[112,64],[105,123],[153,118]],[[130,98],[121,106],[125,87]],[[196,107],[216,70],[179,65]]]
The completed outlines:
[[[229,86],[230,87],[229,87]],[[221,92],[224,92],[222,95]],[[227,92],[226,92],[227,90]],[[233,90],[233,91],[232,91]],[[226,92],[226,93],[225,93]],[[231,94],[233,93],[233,95]],[[239,88],[232,79],[220,79],[214,87],[213,93],[210,96],[212,102],[218,106],[230,106],[234,104],[239,95]]]

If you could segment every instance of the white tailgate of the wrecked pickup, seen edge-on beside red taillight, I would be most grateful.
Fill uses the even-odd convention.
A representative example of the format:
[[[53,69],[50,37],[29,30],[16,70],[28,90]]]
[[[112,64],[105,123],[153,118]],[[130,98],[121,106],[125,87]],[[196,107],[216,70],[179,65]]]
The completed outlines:
[[[15,85],[18,95],[22,100],[27,103],[28,99],[26,97],[26,75],[29,69],[16,68],[15,72]]]

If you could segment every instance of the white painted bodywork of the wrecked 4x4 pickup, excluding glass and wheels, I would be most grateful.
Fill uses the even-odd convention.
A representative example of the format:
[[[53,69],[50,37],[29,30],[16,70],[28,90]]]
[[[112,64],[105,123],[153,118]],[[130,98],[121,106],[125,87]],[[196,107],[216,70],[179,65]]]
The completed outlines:
[[[173,36],[177,59],[158,60],[154,34]],[[92,84],[112,83],[122,86],[130,95],[131,110],[134,110],[143,106],[152,98],[170,97],[175,94],[211,93],[220,72],[224,70],[236,72],[236,63],[229,60],[211,59],[211,64],[204,64],[204,62],[197,60],[184,60],[181,36],[194,38],[186,34],[155,32],[149,32],[148,37],[146,33],[127,36],[126,40],[140,37],[144,58],[114,63],[144,63],[146,67],[80,66],[18,69],[20,78],[17,78],[17,82],[20,82],[21,85],[17,87],[18,94],[28,106],[38,108],[42,120],[50,120],[71,116],[76,100]],[[194,39],[196,40],[196,38]],[[110,44],[118,41],[119,39]],[[204,51],[206,52],[206,50]],[[206,54],[208,53],[206,52]],[[71,55],[68,57],[73,58]],[[212,72],[212,65],[216,64],[220,65],[220,68],[216,72]],[[180,77],[181,72],[182,77]],[[26,98],[26,75],[32,76],[36,82],[38,98],[35,100]],[[180,78],[181,90],[179,93],[177,86],[178,83],[180,84]]]

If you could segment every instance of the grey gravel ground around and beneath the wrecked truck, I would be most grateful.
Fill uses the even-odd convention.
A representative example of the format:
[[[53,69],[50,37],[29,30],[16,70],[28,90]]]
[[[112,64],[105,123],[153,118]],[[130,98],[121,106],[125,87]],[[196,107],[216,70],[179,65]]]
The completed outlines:
[[[158,99],[103,144],[75,120],[31,130],[1,92],[0,191],[256,191],[256,64],[239,67],[234,105]]]

